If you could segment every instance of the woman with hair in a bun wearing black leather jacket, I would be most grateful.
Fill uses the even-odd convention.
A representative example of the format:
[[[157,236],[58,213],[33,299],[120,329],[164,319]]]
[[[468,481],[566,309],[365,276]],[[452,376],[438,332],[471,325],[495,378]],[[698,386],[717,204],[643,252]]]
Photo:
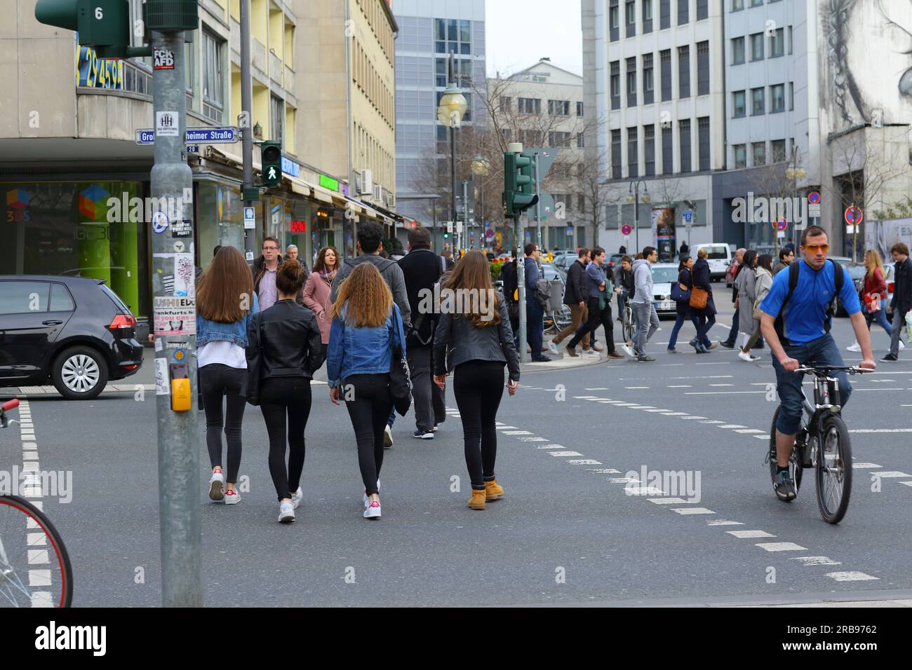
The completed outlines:
[[[256,398],[269,434],[269,474],[279,500],[279,521],[295,521],[304,498],[304,431],[310,416],[310,380],[323,365],[323,344],[316,316],[297,304],[306,270],[285,261],[275,273],[278,300],[254,316],[247,338],[247,356],[259,356],[259,395]],[[285,464],[285,441],[288,462]]]

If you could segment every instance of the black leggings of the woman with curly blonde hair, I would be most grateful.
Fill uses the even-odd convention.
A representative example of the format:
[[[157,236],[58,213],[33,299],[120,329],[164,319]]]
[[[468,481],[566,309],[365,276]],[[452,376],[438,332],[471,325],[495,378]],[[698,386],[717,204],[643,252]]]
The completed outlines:
[[[377,479],[383,465],[383,432],[393,408],[389,373],[349,376],[342,385],[341,395],[355,428],[358,467],[369,496],[377,493]]]

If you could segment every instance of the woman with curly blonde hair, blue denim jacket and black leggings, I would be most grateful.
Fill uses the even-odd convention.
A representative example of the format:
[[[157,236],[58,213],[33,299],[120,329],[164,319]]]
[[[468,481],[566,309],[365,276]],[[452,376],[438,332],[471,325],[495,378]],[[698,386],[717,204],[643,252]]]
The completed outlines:
[[[360,263],[339,284],[329,317],[326,374],[329,398],[345,400],[358,444],[364,518],[380,518],[383,432],[393,408],[389,369],[394,348],[406,355],[399,306],[373,263]]]

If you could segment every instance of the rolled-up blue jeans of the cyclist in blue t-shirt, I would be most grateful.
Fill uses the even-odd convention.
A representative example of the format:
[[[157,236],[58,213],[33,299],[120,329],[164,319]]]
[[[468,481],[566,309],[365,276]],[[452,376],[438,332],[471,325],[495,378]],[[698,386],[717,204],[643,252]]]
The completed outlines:
[[[802,365],[813,362],[817,366],[845,366],[833,335],[827,334],[818,337],[806,345],[786,345],[783,348],[786,356],[794,358]],[[772,354],[771,357],[772,367],[776,371],[776,391],[779,393],[780,403],[776,429],[782,435],[794,435],[798,432],[803,414],[804,394],[801,386],[803,375],[799,375],[797,372],[785,372],[779,360]],[[839,401],[842,407],[845,407],[852,395],[849,376],[845,370],[834,370],[830,376],[839,380]]]

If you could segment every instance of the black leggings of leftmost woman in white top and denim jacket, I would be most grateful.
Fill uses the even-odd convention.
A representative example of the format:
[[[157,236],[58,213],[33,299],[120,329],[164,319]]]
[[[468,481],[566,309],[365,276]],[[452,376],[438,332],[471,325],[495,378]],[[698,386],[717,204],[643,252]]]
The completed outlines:
[[[244,387],[247,371],[212,363],[200,368],[200,392],[206,410],[206,448],[212,468],[222,467],[222,428],[228,442],[228,468],[225,481],[237,483],[241,469],[241,424],[244,421]],[[222,414],[222,397],[227,407]]]

